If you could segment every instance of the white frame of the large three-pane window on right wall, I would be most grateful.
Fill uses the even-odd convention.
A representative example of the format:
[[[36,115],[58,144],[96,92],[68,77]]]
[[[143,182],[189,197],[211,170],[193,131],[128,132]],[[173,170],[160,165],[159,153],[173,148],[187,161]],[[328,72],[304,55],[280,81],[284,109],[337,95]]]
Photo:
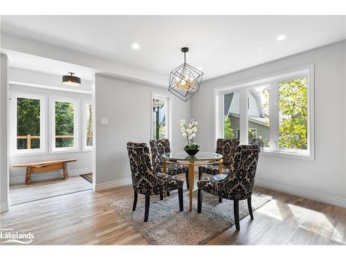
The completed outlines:
[[[264,148],[261,155],[271,155],[277,157],[291,157],[297,159],[315,159],[314,148],[314,67],[313,64],[309,64],[304,67],[296,69],[290,69],[287,71],[281,71],[268,76],[255,78],[253,80],[247,80],[235,85],[225,85],[214,89],[214,131],[213,138],[224,138],[224,125],[223,109],[224,109],[224,94],[240,92],[240,107],[239,107],[239,125],[240,125],[240,143],[248,144],[248,105],[247,105],[247,90],[255,88],[259,85],[268,84],[270,87],[270,147]],[[307,129],[308,129],[308,149],[293,150],[293,149],[280,149],[278,147],[279,140],[279,112],[278,112],[278,85],[285,80],[291,80],[293,78],[307,78]]]

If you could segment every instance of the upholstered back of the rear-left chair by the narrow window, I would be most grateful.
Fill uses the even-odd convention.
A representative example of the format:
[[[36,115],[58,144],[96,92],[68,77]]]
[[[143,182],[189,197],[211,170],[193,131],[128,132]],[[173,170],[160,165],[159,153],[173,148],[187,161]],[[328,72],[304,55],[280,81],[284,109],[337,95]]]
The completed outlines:
[[[150,140],[150,150],[152,150],[152,164],[155,173],[162,173],[162,155],[163,153],[170,153],[170,140],[158,139]]]

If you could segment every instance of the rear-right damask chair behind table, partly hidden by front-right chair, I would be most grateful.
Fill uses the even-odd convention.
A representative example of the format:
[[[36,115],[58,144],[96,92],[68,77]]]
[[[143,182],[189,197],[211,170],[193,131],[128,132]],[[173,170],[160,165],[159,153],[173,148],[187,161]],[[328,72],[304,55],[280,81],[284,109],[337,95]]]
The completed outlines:
[[[228,173],[228,171],[234,171],[233,155],[237,146],[239,146],[239,139],[217,139],[216,152],[222,155],[224,173]],[[199,166],[198,173],[199,180],[201,180],[203,173],[217,175],[219,174],[219,166],[216,164]]]

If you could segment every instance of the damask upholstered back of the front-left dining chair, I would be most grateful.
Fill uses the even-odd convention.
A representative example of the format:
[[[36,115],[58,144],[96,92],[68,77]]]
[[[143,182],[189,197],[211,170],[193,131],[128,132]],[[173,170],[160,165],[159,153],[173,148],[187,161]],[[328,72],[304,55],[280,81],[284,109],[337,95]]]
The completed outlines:
[[[163,190],[163,181],[153,171],[147,144],[129,141],[127,153],[134,190],[145,195],[160,193]]]

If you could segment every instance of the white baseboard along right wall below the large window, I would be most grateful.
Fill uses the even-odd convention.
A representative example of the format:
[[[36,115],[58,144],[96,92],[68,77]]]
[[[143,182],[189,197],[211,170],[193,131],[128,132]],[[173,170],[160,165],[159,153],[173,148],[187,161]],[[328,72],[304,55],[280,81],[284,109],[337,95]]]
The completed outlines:
[[[291,195],[307,198],[309,200],[316,200],[319,202],[324,202],[327,204],[346,208],[346,199],[343,199],[343,198],[320,194],[320,193],[316,193],[312,191],[304,191],[302,189],[296,189],[293,187],[288,187],[288,186],[285,186],[282,184],[276,184],[273,182],[266,182],[264,180],[255,180],[255,185],[257,185],[258,187],[266,188],[266,189],[272,189],[274,191],[289,193]]]

